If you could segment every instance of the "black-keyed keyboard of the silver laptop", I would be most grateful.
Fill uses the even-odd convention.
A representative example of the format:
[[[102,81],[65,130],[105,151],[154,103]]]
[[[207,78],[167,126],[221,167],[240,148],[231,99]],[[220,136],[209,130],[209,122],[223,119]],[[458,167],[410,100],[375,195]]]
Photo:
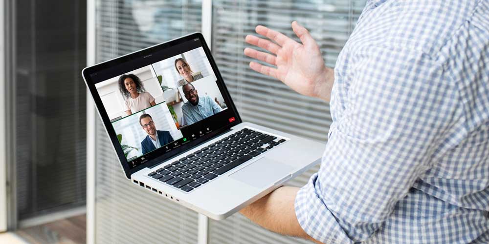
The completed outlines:
[[[244,128],[148,176],[189,192],[282,142],[285,139]]]

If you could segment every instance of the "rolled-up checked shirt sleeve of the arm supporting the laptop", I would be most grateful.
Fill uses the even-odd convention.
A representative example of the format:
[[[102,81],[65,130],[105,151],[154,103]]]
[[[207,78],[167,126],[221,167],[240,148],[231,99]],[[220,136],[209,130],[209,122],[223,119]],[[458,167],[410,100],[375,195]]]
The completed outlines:
[[[300,225],[323,243],[363,242],[382,227],[430,168],[458,96],[442,65],[422,52],[358,50],[340,84],[347,93],[333,88],[332,105],[347,98],[334,104],[341,113],[320,170],[295,199]]]

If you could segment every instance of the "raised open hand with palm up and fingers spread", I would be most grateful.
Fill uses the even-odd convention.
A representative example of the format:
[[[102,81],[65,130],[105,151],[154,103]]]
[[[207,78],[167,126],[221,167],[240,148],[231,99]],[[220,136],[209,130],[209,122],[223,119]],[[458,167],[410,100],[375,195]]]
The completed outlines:
[[[258,25],[255,29],[256,33],[276,43],[253,35],[247,35],[245,41],[264,48],[272,54],[253,48],[245,48],[244,54],[276,67],[253,61],[249,66],[257,72],[284,82],[300,94],[329,102],[334,81],[333,69],[324,65],[319,46],[306,28],[293,21],[292,29],[302,44],[280,32]]]

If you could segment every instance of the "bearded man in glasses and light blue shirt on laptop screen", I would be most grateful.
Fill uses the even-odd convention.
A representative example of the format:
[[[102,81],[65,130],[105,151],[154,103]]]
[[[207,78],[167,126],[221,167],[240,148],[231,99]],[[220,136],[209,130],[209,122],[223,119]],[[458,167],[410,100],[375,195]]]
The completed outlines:
[[[192,83],[184,85],[182,90],[188,100],[182,105],[183,120],[187,124],[193,124],[222,111],[222,108],[209,96],[199,98]]]

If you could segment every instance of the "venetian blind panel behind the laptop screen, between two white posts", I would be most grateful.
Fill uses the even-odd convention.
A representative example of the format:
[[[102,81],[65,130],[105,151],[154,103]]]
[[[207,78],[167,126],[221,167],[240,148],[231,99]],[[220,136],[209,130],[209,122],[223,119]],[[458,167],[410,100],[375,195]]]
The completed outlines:
[[[200,31],[201,1],[96,0],[96,61]],[[197,213],[125,179],[96,124],[96,243],[197,243]]]

